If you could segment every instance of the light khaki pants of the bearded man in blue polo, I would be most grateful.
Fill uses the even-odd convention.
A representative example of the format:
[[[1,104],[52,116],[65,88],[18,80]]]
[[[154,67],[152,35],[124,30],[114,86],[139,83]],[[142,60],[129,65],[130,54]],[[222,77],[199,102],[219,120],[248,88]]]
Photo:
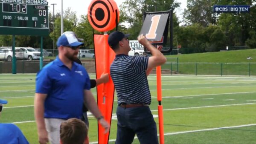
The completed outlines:
[[[66,120],[58,118],[44,118],[44,121],[48,132],[49,142],[51,144],[60,144],[60,126],[61,122]]]

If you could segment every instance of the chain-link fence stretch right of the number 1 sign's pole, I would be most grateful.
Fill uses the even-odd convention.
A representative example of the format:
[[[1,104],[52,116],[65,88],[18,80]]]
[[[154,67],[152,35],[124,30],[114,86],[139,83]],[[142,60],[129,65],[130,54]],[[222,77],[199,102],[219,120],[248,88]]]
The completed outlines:
[[[256,75],[256,63],[177,63],[166,62],[170,75]],[[168,73],[165,73],[168,74]]]

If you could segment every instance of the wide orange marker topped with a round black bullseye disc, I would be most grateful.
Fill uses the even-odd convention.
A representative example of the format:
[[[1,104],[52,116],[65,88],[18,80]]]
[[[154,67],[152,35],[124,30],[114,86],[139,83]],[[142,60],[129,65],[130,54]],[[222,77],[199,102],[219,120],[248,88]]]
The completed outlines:
[[[114,0],[91,0],[88,7],[87,18],[93,29],[105,32],[104,35],[94,36],[96,78],[102,73],[110,74],[110,64],[115,58],[115,53],[108,45],[107,31],[111,31],[117,26],[119,21],[119,9]],[[103,53],[103,55],[102,55]],[[109,82],[97,86],[97,104],[102,112],[102,116],[111,125],[113,111],[114,85],[111,77]],[[105,129],[98,122],[99,144],[108,144],[109,132],[104,134]]]

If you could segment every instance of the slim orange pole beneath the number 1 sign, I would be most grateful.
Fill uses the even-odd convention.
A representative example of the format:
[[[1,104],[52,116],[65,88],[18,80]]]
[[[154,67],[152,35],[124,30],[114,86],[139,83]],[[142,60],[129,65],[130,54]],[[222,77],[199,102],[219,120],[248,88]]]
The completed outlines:
[[[161,101],[162,101],[161,66],[157,66],[157,101],[158,101],[159,138],[160,138],[160,144],[164,144],[163,105],[161,105]]]

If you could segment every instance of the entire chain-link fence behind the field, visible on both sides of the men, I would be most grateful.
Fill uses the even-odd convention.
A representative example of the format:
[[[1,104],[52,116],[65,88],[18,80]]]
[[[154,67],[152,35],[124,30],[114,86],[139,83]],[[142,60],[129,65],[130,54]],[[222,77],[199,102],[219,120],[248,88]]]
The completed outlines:
[[[44,61],[44,66],[49,63]],[[94,60],[82,60],[89,73],[95,73]],[[16,62],[17,73],[36,73],[39,61],[21,60]],[[175,75],[241,75],[256,76],[256,63],[179,63],[178,59],[161,66],[163,74]],[[12,73],[11,61],[0,61],[0,74]]]

